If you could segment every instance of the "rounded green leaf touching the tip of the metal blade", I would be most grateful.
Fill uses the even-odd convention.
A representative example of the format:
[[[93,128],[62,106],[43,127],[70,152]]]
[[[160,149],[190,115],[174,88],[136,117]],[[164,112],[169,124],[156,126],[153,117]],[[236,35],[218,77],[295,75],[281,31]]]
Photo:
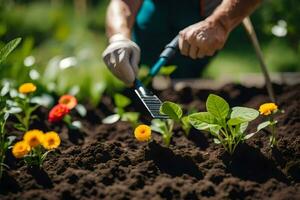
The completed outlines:
[[[177,122],[182,117],[181,107],[178,104],[170,102],[170,101],[165,101],[160,106],[160,112],[162,114],[168,115],[171,119],[174,119]]]

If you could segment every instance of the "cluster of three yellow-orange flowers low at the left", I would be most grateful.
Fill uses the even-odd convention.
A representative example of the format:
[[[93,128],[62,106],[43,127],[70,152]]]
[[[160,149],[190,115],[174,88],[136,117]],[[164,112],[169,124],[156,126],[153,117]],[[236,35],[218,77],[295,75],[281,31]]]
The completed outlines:
[[[22,141],[13,146],[12,153],[15,158],[23,158],[28,166],[42,168],[47,155],[59,145],[60,137],[56,132],[30,130],[24,134]]]

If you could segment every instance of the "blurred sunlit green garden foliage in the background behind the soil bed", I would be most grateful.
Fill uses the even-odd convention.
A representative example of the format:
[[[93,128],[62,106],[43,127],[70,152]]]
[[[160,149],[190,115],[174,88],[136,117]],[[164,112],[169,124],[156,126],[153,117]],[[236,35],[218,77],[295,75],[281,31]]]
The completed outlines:
[[[107,45],[108,0],[0,0],[0,47],[22,43],[0,66],[0,78],[18,85],[33,81],[48,92],[77,93],[96,104],[101,94],[123,85],[107,71],[101,53]],[[251,16],[266,63],[272,72],[300,71],[300,3],[264,1]],[[204,77],[233,79],[260,72],[242,26],[212,59]]]

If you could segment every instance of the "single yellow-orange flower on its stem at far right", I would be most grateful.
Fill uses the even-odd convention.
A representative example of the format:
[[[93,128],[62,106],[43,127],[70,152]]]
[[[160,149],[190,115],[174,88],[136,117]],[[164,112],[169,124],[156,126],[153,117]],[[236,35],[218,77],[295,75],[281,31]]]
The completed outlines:
[[[260,114],[268,117],[268,121],[266,121],[265,123],[271,127],[271,135],[269,140],[271,148],[277,145],[275,132],[277,121],[274,119],[274,115],[278,111],[278,106],[275,103],[264,103],[259,107]]]

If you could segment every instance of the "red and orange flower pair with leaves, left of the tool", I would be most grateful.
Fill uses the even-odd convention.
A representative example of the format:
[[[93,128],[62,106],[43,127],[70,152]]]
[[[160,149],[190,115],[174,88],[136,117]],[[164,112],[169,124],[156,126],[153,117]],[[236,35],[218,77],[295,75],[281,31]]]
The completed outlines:
[[[74,96],[68,94],[63,95],[59,98],[58,104],[50,110],[48,115],[48,121],[50,123],[63,121],[68,125],[70,129],[80,129],[80,121],[72,121],[72,117],[69,114],[74,108],[76,108],[78,111],[78,106],[79,105],[77,103],[77,99]],[[84,109],[84,107],[82,107],[81,109]]]

